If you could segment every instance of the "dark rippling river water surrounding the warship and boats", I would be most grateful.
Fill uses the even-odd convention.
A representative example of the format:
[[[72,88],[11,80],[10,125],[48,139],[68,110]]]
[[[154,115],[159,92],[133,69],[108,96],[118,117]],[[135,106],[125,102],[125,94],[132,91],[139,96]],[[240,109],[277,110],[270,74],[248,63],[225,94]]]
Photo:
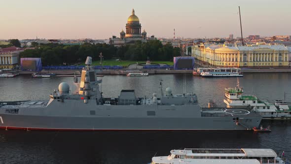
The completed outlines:
[[[105,76],[105,97],[117,97],[121,89],[135,89],[138,97],[160,94],[164,89],[183,92],[183,75],[148,77]],[[0,79],[0,101],[47,100],[60,82],[73,86],[72,77],[32,79],[30,76]],[[291,101],[291,73],[245,74],[239,78],[245,93],[260,99]],[[224,87],[236,86],[236,78],[186,76],[186,92],[196,93],[201,106],[213,99],[223,103]],[[71,90],[74,90],[71,87]],[[263,121],[271,133],[253,131],[24,131],[0,130],[0,164],[146,164],[151,157],[169,155],[180,148],[271,148],[291,158],[291,121]]]

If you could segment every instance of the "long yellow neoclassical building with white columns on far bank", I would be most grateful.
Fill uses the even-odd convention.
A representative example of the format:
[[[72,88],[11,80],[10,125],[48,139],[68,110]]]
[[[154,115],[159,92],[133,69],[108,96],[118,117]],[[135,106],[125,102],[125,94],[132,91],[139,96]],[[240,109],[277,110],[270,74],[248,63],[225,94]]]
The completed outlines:
[[[191,53],[217,67],[289,67],[289,50],[285,45],[200,44],[192,46]]]

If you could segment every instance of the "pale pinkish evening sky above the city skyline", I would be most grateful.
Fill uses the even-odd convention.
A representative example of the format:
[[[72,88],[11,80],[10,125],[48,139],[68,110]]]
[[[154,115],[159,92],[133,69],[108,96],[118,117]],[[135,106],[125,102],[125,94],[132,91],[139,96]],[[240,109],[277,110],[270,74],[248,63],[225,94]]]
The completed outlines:
[[[108,39],[132,8],[147,35],[291,35],[291,0],[0,0],[0,39]]]

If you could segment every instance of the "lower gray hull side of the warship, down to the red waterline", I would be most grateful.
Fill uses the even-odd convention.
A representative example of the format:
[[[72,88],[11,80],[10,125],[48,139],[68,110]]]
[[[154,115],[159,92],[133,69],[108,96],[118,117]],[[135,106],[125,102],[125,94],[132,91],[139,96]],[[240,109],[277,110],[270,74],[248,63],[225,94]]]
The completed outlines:
[[[36,130],[246,130],[260,119],[248,117],[237,124],[232,118],[88,118],[0,115],[0,128]]]

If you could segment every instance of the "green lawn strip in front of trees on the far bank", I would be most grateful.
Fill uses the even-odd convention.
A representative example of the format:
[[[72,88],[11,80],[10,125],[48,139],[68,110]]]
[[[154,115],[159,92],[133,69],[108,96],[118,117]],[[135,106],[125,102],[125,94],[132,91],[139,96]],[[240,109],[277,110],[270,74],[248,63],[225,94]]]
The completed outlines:
[[[123,66],[123,67],[128,67],[130,64],[136,64],[136,61],[128,61],[128,60],[122,60],[122,61],[116,61],[116,60],[104,60],[102,61],[104,66]],[[138,61],[138,64],[145,64],[146,61]],[[168,64],[168,65],[173,65],[173,62],[171,61],[151,61],[151,63],[155,64]],[[84,65],[84,64],[83,64]],[[100,61],[92,61],[93,66],[99,66]]]

